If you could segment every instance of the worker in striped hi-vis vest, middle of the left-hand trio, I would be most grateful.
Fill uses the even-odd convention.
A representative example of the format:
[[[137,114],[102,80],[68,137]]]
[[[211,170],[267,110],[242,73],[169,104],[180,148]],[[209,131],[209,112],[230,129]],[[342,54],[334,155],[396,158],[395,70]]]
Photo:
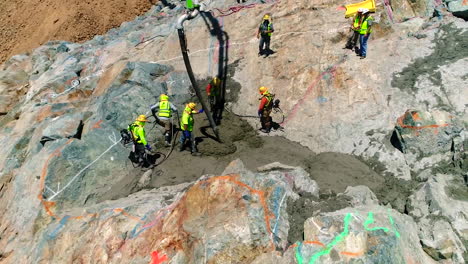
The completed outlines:
[[[156,118],[156,122],[164,127],[164,140],[166,147],[171,145],[172,134],[174,131],[174,125],[172,123],[172,113],[177,113],[177,108],[169,102],[169,96],[161,94],[159,96],[159,103],[151,106],[151,112]],[[156,115],[156,112],[158,113]]]

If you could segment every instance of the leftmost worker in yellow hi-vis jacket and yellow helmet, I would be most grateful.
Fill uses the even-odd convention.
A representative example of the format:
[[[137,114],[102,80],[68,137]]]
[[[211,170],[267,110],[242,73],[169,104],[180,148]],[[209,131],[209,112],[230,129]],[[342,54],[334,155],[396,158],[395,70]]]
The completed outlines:
[[[145,148],[151,151],[151,146],[146,141],[145,135],[145,125],[148,120],[145,115],[140,115],[137,117],[134,123],[132,123],[128,130],[132,134],[133,139],[133,152],[135,153],[135,158],[138,161],[140,166],[143,166],[146,162],[146,151]]]

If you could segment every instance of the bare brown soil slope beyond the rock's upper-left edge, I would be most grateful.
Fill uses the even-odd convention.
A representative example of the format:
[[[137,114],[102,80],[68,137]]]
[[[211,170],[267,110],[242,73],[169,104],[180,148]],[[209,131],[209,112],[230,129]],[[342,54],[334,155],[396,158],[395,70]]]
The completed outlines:
[[[85,41],[143,14],[157,0],[5,0],[0,63],[49,40]]]

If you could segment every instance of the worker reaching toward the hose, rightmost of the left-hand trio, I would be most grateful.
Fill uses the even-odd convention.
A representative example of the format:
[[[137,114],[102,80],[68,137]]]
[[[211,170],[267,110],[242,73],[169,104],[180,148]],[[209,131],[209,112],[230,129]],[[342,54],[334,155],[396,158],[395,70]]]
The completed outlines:
[[[182,114],[182,118],[180,119],[180,129],[182,130],[182,135],[180,136],[180,148],[179,151],[184,151],[185,149],[185,142],[188,140],[191,144],[191,152],[192,155],[198,156],[200,153],[197,150],[197,146],[195,143],[195,136],[193,135],[193,114],[200,114],[203,113],[203,109],[196,111],[195,108],[197,105],[193,102],[188,103],[185,106],[184,113]]]

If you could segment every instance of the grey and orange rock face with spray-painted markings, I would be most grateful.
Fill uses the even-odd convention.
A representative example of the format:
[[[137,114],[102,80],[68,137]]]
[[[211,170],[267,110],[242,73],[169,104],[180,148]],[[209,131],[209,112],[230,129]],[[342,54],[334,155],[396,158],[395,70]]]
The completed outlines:
[[[141,190],[160,171],[133,168],[119,131],[149,113],[161,93],[179,112],[194,100],[174,28],[180,3],[154,6],[86,43],[49,42],[5,62],[0,261],[466,262],[468,26],[444,10],[413,17],[432,16],[432,2],[384,1],[361,60],[342,48],[350,21],[338,7],[346,3],[254,1],[228,9],[233,3],[220,0],[185,24],[200,84],[227,76],[226,110],[254,128],[256,89],[269,87],[282,101],[273,121],[284,128],[270,136],[322,153],[307,159],[315,175],[280,163],[252,172],[235,161],[216,176]],[[254,35],[266,12],[275,53],[263,58]],[[418,118],[421,127],[439,127],[413,129]],[[231,131],[231,149],[262,146],[250,126],[239,126],[250,141]],[[392,145],[395,126],[404,152]],[[148,138],[163,140],[159,132]],[[349,159],[330,164],[332,152]],[[197,157],[178,157],[179,169],[193,174],[186,161]],[[323,182],[339,185],[338,195],[313,180],[333,166],[320,176],[330,175]],[[337,173],[344,179],[334,183]],[[352,187],[350,177],[364,180]]]

